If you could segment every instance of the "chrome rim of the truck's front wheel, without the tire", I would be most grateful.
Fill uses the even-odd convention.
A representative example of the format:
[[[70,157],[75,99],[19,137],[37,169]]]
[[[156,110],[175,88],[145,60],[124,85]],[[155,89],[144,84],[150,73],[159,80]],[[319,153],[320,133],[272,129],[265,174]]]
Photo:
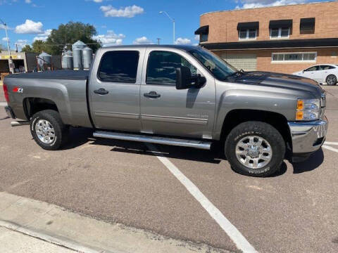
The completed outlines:
[[[261,136],[246,136],[236,145],[237,160],[249,169],[265,167],[273,158],[270,143]]]

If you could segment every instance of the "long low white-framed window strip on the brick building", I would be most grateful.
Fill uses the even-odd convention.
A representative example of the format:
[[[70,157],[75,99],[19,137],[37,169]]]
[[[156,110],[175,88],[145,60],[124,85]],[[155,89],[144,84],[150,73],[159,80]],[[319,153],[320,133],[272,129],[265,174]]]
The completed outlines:
[[[316,52],[273,53],[271,57],[271,61],[273,63],[302,63],[302,62],[315,63],[316,59],[317,59]]]

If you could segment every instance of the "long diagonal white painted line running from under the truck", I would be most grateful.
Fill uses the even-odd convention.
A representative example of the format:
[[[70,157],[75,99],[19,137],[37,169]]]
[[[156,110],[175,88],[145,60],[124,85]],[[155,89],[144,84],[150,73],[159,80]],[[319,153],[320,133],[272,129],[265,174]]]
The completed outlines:
[[[149,143],[146,143],[149,149],[158,151],[154,145],[151,145]],[[170,162],[170,160],[167,157],[163,156],[156,156],[158,160],[160,160],[165,167],[169,169],[169,171],[182,183],[182,185],[187,188],[189,193],[201,204],[204,209],[206,209],[206,212],[210,214],[210,216],[218,223],[218,225],[227,233],[227,235],[231,238],[231,240],[237,245],[238,249],[241,249],[244,253],[253,253],[257,252],[256,249],[253,248],[253,246],[244,238],[242,233],[240,233],[237,228],[232,225],[232,223],[225,218],[225,216],[220,212],[220,210],[213,205],[213,203],[208,200],[208,198],[201,193],[201,190],[197,188],[197,186],[190,181],[190,179],[187,178],[187,176],[184,176],[180,169],[177,169],[177,167]]]

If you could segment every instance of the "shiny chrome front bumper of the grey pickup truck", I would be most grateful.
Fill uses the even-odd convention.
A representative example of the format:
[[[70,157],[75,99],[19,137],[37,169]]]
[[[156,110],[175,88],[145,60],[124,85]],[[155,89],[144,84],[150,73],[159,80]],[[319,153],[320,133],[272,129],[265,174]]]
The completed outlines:
[[[314,122],[288,122],[293,153],[312,153],[320,149],[327,134],[327,117]]]

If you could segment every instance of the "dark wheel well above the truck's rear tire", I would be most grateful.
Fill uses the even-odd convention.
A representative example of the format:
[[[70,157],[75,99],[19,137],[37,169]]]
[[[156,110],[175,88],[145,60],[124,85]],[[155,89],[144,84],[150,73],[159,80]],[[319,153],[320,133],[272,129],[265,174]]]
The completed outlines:
[[[58,112],[56,103],[46,98],[25,98],[23,100],[23,108],[27,119],[30,119],[35,113],[42,110],[55,110]]]

